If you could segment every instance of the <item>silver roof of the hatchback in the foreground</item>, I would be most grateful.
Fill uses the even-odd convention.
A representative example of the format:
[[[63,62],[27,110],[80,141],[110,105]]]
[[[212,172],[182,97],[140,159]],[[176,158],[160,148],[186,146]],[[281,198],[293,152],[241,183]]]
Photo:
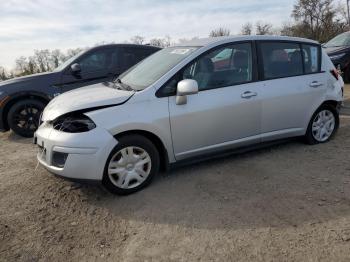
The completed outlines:
[[[198,38],[179,44],[179,46],[207,46],[221,42],[235,42],[235,41],[252,41],[252,40],[279,40],[279,41],[296,41],[318,44],[317,41],[289,36],[272,36],[272,35],[237,35],[237,36],[220,36],[210,38]]]

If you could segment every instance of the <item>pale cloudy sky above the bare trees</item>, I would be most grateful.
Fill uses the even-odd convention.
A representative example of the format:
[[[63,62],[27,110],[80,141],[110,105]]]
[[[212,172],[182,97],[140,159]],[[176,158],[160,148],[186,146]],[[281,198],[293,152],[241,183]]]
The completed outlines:
[[[232,34],[258,20],[278,27],[290,20],[294,0],[0,0],[0,66],[34,49],[123,42],[134,35],[207,37]]]

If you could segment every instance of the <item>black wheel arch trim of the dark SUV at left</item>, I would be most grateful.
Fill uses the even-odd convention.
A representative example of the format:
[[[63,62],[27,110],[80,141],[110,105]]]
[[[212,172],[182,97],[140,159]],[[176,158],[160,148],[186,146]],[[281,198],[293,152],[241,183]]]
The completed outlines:
[[[4,105],[3,111],[2,111],[2,121],[5,129],[9,129],[8,125],[8,113],[11,109],[11,107],[16,104],[17,102],[24,100],[24,99],[35,99],[39,100],[40,102],[44,103],[44,105],[47,105],[50,101],[49,97],[43,93],[39,92],[21,92],[10,96],[10,99],[6,102]]]

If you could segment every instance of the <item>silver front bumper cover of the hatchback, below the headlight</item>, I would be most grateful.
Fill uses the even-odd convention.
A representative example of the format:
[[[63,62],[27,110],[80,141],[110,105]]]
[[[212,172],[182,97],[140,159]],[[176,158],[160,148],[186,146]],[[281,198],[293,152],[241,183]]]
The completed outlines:
[[[115,138],[102,128],[85,133],[65,133],[44,123],[35,133],[40,150],[38,161],[51,173],[74,180],[102,180],[106,160],[117,145]],[[53,166],[53,152],[68,154],[64,167]]]

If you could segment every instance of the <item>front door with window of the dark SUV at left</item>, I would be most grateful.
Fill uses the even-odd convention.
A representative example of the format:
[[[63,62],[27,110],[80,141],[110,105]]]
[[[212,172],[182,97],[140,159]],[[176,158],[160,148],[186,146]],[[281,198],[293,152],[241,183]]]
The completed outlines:
[[[81,72],[72,73],[68,68],[62,75],[61,91],[66,92],[82,86],[110,81],[120,72],[118,48],[91,50],[74,63],[80,64]]]

